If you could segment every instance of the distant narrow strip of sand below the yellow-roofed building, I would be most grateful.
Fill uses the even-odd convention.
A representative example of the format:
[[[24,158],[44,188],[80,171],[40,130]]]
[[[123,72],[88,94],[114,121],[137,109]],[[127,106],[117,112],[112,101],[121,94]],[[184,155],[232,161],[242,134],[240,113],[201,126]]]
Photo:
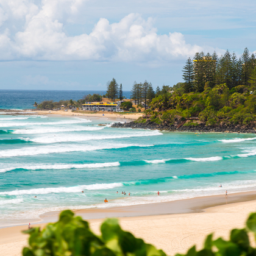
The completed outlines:
[[[99,112],[99,113],[88,113],[82,110],[79,111],[52,111],[52,110],[37,110],[31,112],[36,115],[64,115],[64,116],[88,116],[88,117],[97,117],[97,118],[118,118],[123,120],[129,120],[129,119],[138,119],[140,116],[143,115],[143,113],[121,113],[121,112]],[[123,121],[122,120],[122,121]]]

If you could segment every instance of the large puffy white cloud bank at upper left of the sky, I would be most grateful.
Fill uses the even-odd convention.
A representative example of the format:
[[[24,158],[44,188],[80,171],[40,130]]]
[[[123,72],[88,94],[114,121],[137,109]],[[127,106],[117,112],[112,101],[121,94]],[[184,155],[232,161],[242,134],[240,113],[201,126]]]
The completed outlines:
[[[178,32],[158,35],[152,18],[144,20],[138,13],[112,24],[101,18],[90,34],[68,36],[63,23],[72,21],[84,0],[42,0],[41,7],[29,0],[0,2],[9,16],[26,20],[13,37],[7,31],[0,34],[2,60],[159,62],[203,50],[186,43]]]

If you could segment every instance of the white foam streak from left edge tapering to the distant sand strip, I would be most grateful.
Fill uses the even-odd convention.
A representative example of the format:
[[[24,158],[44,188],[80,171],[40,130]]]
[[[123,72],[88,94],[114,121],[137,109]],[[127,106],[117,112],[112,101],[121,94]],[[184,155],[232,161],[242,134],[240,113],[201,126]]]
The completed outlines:
[[[57,122],[9,122],[9,123],[0,123],[0,127],[14,127],[14,126],[59,126],[62,124],[78,124],[78,123],[90,123],[91,120],[82,119],[82,118],[72,118],[71,120],[57,121]]]

